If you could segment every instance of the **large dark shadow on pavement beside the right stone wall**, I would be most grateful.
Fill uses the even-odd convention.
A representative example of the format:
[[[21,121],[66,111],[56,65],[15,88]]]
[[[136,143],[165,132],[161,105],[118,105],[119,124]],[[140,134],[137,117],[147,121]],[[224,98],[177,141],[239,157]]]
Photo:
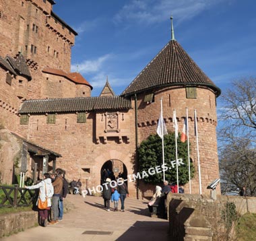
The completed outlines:
[[[166,241],[170,239],[168,236],[168,228],[168,221],[136,221],[133,226],[117,238],[117,240]]]

